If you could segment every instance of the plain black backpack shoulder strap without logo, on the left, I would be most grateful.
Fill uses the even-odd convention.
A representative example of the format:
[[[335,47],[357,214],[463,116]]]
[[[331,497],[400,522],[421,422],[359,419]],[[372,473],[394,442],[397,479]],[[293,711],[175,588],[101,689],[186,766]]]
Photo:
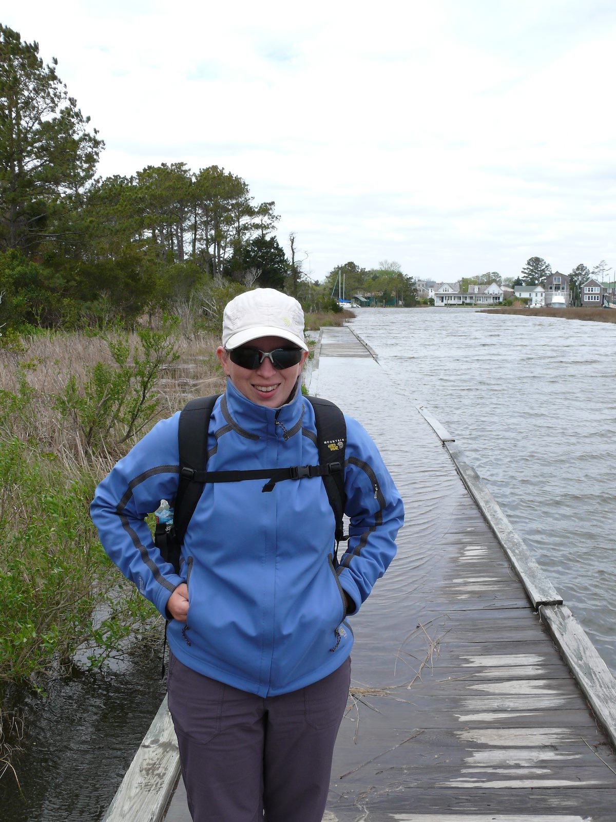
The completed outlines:
[[[180,480],[173,506],[173,528],[180,544],[184,542],[184,534],[203,492],[203,483],[192,481],[186,477],[182,469],[191,469],[194,472],[205,469],[208,461],[209,418],[219,396],[214,394],[191,399],[180,412],[177,427]]]

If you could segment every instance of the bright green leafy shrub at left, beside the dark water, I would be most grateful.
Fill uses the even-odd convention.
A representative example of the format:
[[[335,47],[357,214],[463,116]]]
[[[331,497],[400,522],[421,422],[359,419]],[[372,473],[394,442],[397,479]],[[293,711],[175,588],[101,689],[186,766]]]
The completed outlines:
[[[0,442],[0,681],[30,681],[80,657],[99,666],[154,609],[99,545],[94,479],[52,454]]]

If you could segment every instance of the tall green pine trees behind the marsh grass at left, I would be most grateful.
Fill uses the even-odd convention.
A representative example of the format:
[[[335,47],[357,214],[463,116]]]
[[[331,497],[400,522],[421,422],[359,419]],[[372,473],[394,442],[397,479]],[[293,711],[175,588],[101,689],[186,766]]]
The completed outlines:
[[[0,328],[131,323],[212,284],[310,294],[274,201],[218,165],[95,178],[104,149],[39,45],[0,25]]]

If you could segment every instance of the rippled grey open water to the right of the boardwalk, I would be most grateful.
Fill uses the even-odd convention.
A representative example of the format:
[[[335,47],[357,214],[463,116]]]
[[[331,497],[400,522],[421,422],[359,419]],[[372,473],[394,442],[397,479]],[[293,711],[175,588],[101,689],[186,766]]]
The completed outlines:
[[[428,405],[456,437],[616,672],[616,324],[447,308],[356,313],[352,328],[391,390]]]

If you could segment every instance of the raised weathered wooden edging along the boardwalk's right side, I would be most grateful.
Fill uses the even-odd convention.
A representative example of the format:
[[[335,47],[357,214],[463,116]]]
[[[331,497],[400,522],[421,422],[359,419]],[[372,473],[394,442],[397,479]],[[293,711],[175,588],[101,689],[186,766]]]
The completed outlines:
[[[468,464],[464,452],[455,444],[453,436],[425,406],[418,405],[417,410],[448,451],[462,482],[517,571],[528,598],[548,626],[573,677],[591,705],[595,718],[616,746],[616,681],[612,673],[586,635],[586,631],[547,580],[543,570],[503,514],[503,510],[479,474]]]

